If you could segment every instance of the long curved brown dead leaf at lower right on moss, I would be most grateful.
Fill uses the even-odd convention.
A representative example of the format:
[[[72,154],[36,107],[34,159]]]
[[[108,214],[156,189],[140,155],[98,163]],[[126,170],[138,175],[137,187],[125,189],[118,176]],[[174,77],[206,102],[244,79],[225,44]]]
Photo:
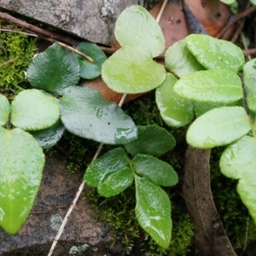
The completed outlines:
[[[212,199],[210,150],[188,147],[183,197],[195,225],[195,244],[201,255],[236,256]]]

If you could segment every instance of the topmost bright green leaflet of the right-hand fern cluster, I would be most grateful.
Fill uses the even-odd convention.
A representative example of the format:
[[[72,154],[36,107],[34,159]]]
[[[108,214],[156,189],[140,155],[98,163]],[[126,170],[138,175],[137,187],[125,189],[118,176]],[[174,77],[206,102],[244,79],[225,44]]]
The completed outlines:
[[[242,50],[229,41],[203,34],[191,34],[187,46],[197,61],[207,69],[241,70],[245,60]]]

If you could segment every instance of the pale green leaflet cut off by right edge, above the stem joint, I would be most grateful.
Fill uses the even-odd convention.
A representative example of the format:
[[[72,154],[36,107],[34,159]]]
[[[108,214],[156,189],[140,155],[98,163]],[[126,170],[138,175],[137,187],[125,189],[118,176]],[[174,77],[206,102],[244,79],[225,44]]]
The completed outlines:
[[[248,61],[243,67],[243,79],[247,89],[247,105],[256,112],[256,59]]]

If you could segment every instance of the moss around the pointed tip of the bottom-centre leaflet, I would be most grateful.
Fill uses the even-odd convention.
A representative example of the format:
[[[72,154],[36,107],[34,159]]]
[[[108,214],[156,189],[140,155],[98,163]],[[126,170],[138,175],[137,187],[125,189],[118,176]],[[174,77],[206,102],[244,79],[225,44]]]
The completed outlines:
[[[108,224],[109,232],[113,236],[113,244],[121,242],[126,255],[168,255],[185,256],[189,253],[194,236],[193,224],[187,213],[181,212],[179,207],[172,207],[172,241],[168,249],[159,247],[151,237],[146,234],[137,222],[135,216],[135,188],[131,186],[123,193],[104,198],[92,189],[86,195],[94,209],[97,220]]]

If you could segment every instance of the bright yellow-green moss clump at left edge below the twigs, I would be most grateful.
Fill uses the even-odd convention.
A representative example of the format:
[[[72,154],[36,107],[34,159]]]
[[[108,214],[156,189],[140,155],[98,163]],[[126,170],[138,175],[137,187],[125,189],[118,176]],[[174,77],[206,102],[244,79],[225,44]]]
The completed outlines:
[[[19,32],[0,32],[0,42],[0,93],[10,97],[26,84],[25,72],[37,51],[36,39]]]

